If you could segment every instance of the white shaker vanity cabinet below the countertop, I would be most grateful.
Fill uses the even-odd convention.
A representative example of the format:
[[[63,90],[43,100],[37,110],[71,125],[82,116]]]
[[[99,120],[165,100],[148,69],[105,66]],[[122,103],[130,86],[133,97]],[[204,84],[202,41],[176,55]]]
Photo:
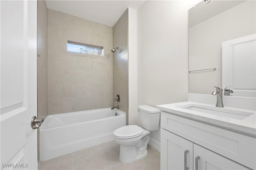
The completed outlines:
[[[162,170],[255,169],[255,144],[254,137],[161,111]]]

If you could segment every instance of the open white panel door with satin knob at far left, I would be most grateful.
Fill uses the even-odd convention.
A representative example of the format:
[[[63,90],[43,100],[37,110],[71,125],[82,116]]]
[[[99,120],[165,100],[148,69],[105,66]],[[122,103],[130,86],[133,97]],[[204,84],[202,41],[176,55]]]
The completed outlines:
[[[1,169],[37,169],[36,0],[1,0]]]

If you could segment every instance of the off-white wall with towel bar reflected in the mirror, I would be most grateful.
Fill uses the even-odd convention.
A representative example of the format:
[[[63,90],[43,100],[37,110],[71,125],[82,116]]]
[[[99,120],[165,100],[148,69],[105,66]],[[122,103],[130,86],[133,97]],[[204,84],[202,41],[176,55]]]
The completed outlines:
[[[256,32],[255,2],[243,2],[189,29],[189,69],[217,68],[190,73],[190,93],[210,94],[214,86],[222,87],[222,42]]]

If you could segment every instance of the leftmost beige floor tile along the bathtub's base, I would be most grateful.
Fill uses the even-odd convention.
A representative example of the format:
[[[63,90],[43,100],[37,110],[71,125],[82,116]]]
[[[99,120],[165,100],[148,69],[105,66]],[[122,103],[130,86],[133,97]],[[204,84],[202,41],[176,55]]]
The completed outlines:
[[[58,164],[58,163],[61,163],[61,162],[67,162],[67,161],[70,161],[70,160],[72,161],[72,154],[71,153],[65,154],[65,155],[62,155],[62,156],[59,156],[59,157],[56,157],[56,158],[52,158],[50,160],[40,162],[39,165],[38,165],[38,170],[44,169],[44,168],[47,168],[47,167],[51,167],[51,166],[54,166],[55,164]]]

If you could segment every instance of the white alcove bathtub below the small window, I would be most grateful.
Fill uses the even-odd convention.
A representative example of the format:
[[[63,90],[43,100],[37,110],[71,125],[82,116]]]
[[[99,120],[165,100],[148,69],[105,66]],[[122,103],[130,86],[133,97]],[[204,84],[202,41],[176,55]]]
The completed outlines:
[[[39,129],[40,160],[112,141],[114,130],[125,125],[125,113],[118,109],[48,115]]]

